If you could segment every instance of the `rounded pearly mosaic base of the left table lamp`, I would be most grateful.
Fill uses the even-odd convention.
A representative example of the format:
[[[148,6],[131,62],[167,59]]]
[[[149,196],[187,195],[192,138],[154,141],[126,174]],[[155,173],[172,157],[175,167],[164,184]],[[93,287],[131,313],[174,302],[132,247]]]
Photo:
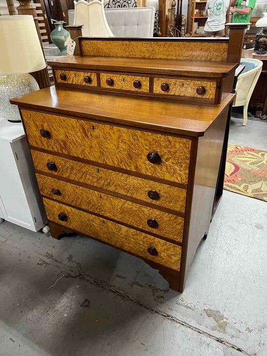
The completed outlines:
[[[0,117],[10,122],[21,122],[18,106],[9,100],[36,90],[39,90],[39,85],[31,74],[0,75]]]

